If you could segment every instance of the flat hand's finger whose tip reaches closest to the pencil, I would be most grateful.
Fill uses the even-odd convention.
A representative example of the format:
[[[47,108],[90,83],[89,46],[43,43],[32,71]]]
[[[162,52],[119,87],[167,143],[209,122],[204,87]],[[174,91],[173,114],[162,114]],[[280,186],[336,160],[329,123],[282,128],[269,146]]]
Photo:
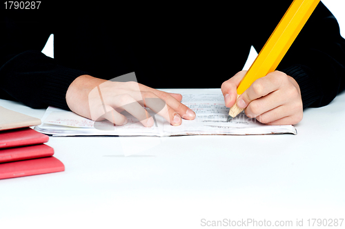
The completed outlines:
[[[169,93],[162,92],[161,90],[156,90],[156,89],[149,88],[143,85],[141,85],[140,89],[141,89],[141,93],[145,94],[143,95],[143,97],[150,98],[151,94],[148,94],[148,92],[150,92],[152,94],[155,94],[156,97],[163,99],[168,106],[168,110],[170,108],[172,109],[172,110],[169,110],[170,113],[174,111],[174,112],[177,112],[179,117],[182,117],[184,119],[188,119],[188,120],[195,119],[195,112],[191,110],[190,108],[188,108],[187,106],[185,106],[183,103],[180,103],[177,99],[175,99],[175,97],[172,97],[172,95],[170,95]]]

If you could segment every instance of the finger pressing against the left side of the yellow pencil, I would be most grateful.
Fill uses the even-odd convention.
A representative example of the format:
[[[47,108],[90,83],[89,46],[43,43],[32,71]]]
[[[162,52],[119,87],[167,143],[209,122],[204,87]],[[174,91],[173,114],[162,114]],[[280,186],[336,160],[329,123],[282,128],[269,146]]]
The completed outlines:
[[[237,72],[233,77],[221,84],[221,92],[224,96],[225,106],[230,108],[237,99],[237,86],[247,71]]]

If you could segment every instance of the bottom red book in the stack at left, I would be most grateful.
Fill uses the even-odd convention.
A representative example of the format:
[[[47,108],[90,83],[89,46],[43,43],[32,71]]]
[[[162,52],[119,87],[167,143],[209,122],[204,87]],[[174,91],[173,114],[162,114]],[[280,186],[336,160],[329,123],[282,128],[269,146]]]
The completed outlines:
[[[0,179],[26,177],[64,170],[65,166],[63,166],[63,163],[55,157],[14,161],[0,164]]]

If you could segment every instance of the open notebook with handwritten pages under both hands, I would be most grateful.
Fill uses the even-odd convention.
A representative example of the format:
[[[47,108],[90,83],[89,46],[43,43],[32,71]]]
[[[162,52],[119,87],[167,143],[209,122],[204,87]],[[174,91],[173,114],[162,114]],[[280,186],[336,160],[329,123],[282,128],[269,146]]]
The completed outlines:
[[[244,112],[235,119],[226,122],[228,110],[224,106],[224,97],[220,89],[184,89],[166,90],[183,96],[182,103],[195,111],[194,120],[183,119],[181,126],[171,126],[168,121],[148,112],[154,117],[155,124],[146,128],[132,115],[122,112],[128,118],[124,126],[114,126],[110,121],[91,121],[73,112],[49,107],[42,118],[42,124],[34,129],[53,136],[177,136],[177,135],[271,135],[293,134],[296,129],[291,126],[267,126],[249,119]]]

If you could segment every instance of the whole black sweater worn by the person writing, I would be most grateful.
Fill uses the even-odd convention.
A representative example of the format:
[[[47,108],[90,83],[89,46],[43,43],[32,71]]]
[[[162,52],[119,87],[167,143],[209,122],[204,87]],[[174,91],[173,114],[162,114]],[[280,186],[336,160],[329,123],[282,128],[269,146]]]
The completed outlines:
[[[250,46],[261,50],[291,3],[273,1],[272,10],[272,1],[242,2],[111,14],[44,2],[36,11],[1,10],[0,97],[68,109],[66,90],[79,75],[128,72],[152,88],[219,88],[242,70]],[[54,59],[41,53],[52,33]],[[344,90],[344,51],[336,19],[319,3],[277,70],[299,83],[304,108],[325,106]]]

